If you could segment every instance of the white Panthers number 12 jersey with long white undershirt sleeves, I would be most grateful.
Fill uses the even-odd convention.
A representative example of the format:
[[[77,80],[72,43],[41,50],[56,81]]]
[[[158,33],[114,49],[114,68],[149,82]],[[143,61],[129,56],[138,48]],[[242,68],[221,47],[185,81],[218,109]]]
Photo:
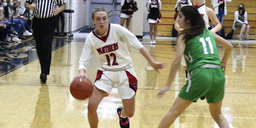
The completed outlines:
[[[79,70],[88,68],[92,51],[95,52],[102,68],[115,70],[131,67],[132,59],[127,44],[137,51],[144,47],[137,37],[128,29],[117,24],[109,23],[109,29],[103,37],[99,37],[95,33],[96,29],[91,31],[85,40],[79,60]]]

